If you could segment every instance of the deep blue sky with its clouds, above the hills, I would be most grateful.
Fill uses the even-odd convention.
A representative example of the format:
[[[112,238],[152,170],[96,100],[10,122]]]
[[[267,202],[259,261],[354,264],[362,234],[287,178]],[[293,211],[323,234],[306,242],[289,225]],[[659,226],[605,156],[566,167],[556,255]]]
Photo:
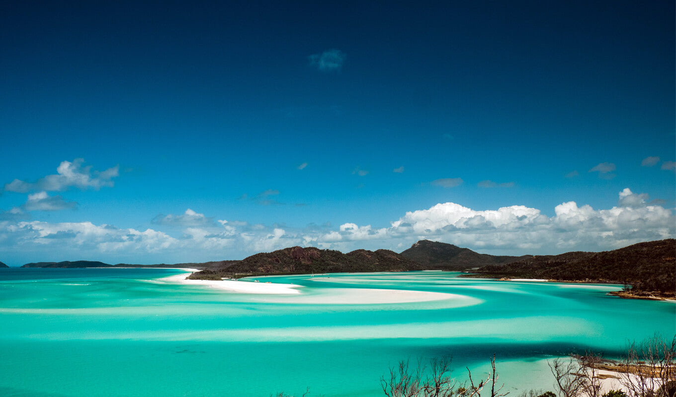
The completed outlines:
[[[3,1],[0,261],[676,235],[673,1]]]

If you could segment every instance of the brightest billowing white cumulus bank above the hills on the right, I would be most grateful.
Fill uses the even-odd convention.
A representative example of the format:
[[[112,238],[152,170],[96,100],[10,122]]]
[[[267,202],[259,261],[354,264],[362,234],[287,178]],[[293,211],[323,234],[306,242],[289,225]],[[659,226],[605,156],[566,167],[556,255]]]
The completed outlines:
[[[381,240],[381,246],[395,247],[429,239],[523,255],[606,250],[673,237],[676,220],[672,211],[649,205],[647,200],[648,194],[635,194],[627,188],[619,194],[617,207],[597,210],[569,201],[557,205],[553,217],[523,205],[474,210],[456,203],[439,203],[407,212],[389,228],[345,223],[338,231],[325,232],[318,241],[324,248],[347,248],[355,241]]]

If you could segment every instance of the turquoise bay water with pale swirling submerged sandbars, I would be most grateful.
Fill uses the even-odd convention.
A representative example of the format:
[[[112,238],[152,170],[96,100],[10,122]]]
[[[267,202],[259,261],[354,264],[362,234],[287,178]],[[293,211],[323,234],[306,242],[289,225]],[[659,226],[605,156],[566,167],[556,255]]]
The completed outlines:
[[[177,273],[0,269],[0,395],[381,396],[402,359],[450,355],[464,379],[493,353],[518,395],[550,388],[552,356],[676,334],[673,302],[605,295],[621,286],[344,273],[241,294],[162,280]]]

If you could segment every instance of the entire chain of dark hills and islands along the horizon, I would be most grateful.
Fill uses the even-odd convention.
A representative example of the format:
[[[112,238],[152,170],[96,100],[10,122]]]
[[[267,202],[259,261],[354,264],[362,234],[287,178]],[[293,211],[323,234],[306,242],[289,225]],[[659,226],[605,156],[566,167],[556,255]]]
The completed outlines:
[[[0,267],[7,267],[0,262]],[[192,268],[193,280],[222,280],[247,275],[364,273],[373,271],[466,271],[465,277],[500,280],[544,279],[558,282],[624,284],[613,293],[626,298],[676,298],[676,240],[640,242],[601,253],[571,252],[560,255],[495,256],[476,253],[453,244],[420,240],[402,253],[379,249],[337,250],[293,246],[258,253],[241,261],[110,265],[98,261],[26,263],[22,267],[161,267]]]

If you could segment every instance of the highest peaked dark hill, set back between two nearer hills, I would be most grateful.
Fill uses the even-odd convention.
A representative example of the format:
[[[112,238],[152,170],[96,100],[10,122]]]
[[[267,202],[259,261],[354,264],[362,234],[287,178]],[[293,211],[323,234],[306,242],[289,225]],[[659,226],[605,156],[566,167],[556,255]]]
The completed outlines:
[[[464,270],[485,265],[503,265],[531,257],[531,255],[508,257],[479,254],[469,248],[429,240],[416,242],[411,248],[402,252],[402,256],[420,263],[425,269],[439,270]]]

